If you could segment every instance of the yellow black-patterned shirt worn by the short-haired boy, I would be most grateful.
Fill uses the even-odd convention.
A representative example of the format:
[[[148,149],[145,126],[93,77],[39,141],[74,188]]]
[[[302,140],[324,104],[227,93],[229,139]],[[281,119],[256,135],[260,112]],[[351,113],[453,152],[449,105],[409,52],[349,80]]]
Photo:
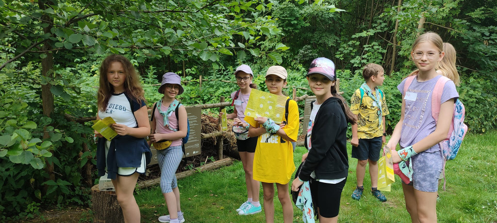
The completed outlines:
[[[390,113],[385,101],[385,94],[383,94],[381,101],[382,115],[385,116]],[[357,89],[354,92],[350,101],[350,110],[359,116],[357,121],[357,137],[359,139],[372,139],[383,135],[383,123],[381,126],[379,125],[378,106],[366,93],[364,93],[361,103],[360,90]]]

